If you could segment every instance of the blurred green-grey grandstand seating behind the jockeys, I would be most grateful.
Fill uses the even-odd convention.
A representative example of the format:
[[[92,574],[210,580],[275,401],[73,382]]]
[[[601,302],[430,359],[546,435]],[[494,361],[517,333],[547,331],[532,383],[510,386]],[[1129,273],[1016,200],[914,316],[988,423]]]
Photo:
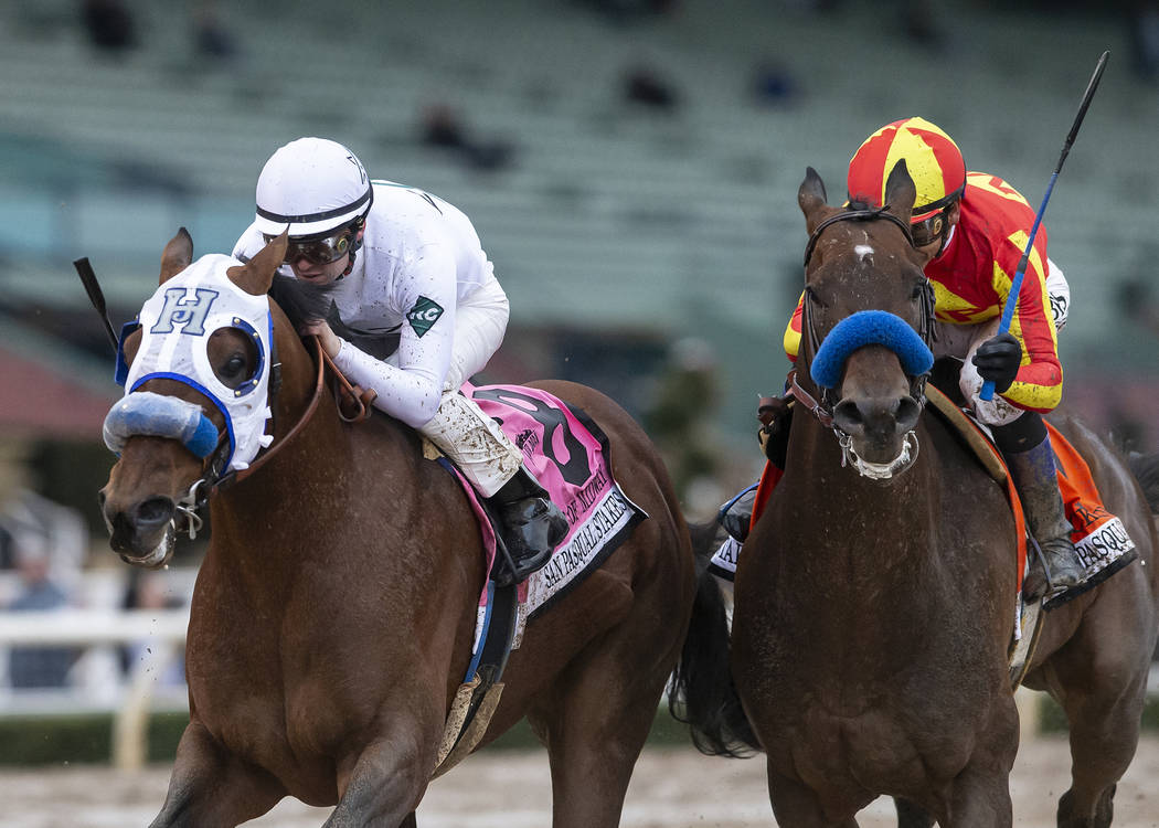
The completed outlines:
[[[1159,87],[1120,14],[981,0],[124,6],[136,43],[117,50],[94,44],[76,2],[0,12],[8,438],[94,444],[101,400],[117,392],[73,259],[92,259],[119,326],[177,226],[199,253],[227,252],[265,158],[321,135],[475,221],[512,299],[493,378],[581,379],[639,415],[670,343],[701,339],[730,485],[757,469],[756,395],[779,391],[787,370],[806,166],[839,198],[860,140],[920,114],[970,168],[1037,204],[1109,48],[1045,226],[1073,295],[1067,400],[1159,443],[1159,326],[1144,310],[1159,257]],[[206,37],[195,23],[214,12]],[[641,68],[666,103],[626,94]],[[431,111],[493,152],[425,141]],[[92,501],[78,506],[95,523]]]

